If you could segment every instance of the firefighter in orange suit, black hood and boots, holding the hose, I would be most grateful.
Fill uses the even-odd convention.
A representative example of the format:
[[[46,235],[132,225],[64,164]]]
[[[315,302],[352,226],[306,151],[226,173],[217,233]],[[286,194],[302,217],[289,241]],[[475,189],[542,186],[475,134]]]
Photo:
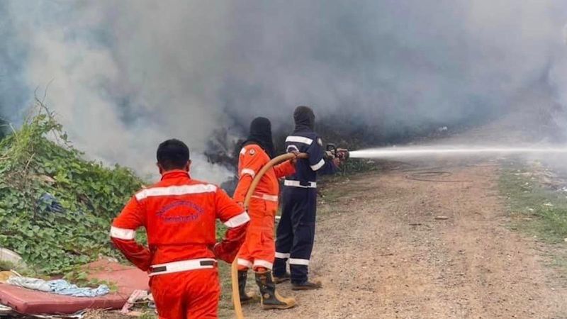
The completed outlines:
[[[242,143],[238,172],[240,180],[235,190],[235,201],[242,203],[256,174],[274,157],[274,143],[271,138],[271,123],[267,118],[254,118],[250,133]],[[276,247],[274,244],[274,219],[278,210],[279,181],[281,177],[295,172],[295,159],[279,164],[260,180],[249,203],[250,225],[246,239],[238,252],[238,286],[240,301],[247,302],[252,296],[245,291],[248,269],[256,275],[256,283],[262,295],[264,309],[286,309],[295,306],[293,298],[283,298],[276,293],[271,276]]]

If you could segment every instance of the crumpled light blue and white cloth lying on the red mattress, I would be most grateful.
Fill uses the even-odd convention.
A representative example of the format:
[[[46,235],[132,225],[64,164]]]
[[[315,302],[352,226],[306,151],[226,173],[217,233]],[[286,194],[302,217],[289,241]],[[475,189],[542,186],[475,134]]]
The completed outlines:
[[[100,285],[97,288],[79,288],[77,285],[70,284],[69,281],[63,279],[45,281],[38,278],[13,276],[8,279],[6,283],[27,289],[73,297],[98,297],[104,296],[110,292],[110,289],[108,289],[106,285]]]

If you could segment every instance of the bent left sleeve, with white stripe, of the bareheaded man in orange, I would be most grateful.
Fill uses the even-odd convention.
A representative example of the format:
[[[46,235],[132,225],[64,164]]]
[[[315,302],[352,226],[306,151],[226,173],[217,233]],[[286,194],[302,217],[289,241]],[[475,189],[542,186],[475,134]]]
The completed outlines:
[[[130,262],[143,271],[147,271],[150,269],[152,254],[147,247],[135,241],[136,230],[144,225],[144,219],[143,208],[133,197],[120,215],[114,219],[111,227],[111,240]]]

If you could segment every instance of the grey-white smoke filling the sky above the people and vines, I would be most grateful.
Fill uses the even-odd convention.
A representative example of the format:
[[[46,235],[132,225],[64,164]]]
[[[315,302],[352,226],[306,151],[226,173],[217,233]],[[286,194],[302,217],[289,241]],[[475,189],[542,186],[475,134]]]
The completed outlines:
[[[0,2],[0,114],[35,87],[91,157],[152,170],[185,140],[196,174],[218,128],[299,104],[385,133],[513,111],[534,87],[567,106],[566,1]]]

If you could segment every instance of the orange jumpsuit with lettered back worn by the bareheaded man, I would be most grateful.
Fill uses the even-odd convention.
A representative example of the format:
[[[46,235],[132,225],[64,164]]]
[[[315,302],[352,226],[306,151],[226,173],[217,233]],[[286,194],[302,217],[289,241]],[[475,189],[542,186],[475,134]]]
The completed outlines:
[[[216,218],[228,230],[215,245]],[[248,221],[225,191],[175,170],[130,199],[113,222],[111,239],[130,262],[150,274],[159,318],[217,318],[215,257],[226,262],[235,258]],[[139,227],[147,232],[149,249],[135,242]]]

